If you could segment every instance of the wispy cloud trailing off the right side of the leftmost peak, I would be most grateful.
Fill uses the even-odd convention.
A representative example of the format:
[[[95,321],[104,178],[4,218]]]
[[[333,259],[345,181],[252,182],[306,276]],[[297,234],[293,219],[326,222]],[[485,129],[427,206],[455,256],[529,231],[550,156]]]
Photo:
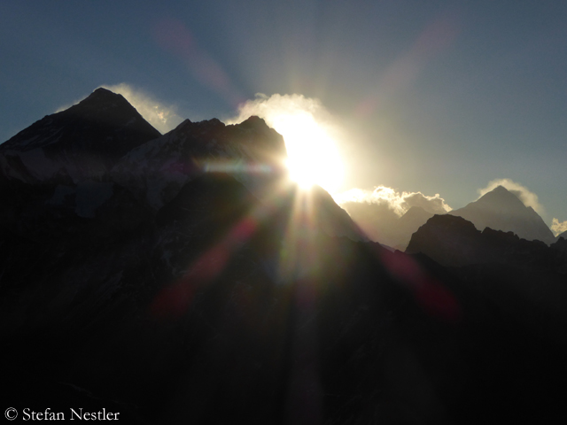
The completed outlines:
[[[174,105],[163,104],[142,89],[136,89],[126,83],[101,87],[125,97],[136,108],[137,112],[140,112],[144,119],[162,134],[167,133],[183,121],[177,115]]]

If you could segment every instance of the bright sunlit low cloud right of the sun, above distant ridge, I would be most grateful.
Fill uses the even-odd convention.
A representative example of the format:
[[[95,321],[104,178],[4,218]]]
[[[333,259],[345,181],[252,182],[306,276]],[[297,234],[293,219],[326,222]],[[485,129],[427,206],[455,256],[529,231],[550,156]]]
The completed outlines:
[[[378,186],[374,190],[350,189],[334,196],[338,205],[369,204],[386,205],[397,216],[405,214],[412,206],[421,206],[425,211],[433,214],[445,214],[451,208],[445,199],[436,193],[429,197],[422,192],[400,192],[385,186]]]

